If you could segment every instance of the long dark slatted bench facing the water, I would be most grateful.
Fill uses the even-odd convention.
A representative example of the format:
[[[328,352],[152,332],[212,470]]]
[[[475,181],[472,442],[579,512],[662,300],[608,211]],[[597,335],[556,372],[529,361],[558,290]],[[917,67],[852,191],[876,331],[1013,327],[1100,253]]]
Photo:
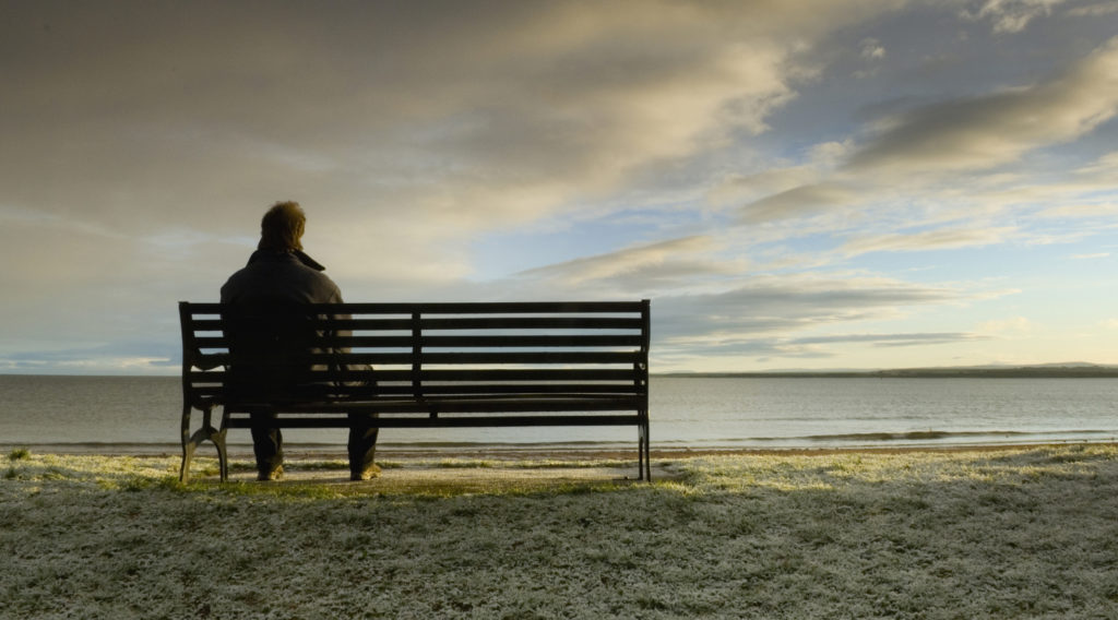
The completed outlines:
[[[635,426],[638,478],[652,477],[647,299],[299,307],[310,335],[296,359],[290,344],[284,355],[230,346],[235,306],[179,303],[182,481],[203,441],[225,481],[226,431],[252,428],[254,413],[281,428],[348,428],[350,413],[376,413],[375,428]],[[231,369],[282,371],[287,389],[239,393]]]

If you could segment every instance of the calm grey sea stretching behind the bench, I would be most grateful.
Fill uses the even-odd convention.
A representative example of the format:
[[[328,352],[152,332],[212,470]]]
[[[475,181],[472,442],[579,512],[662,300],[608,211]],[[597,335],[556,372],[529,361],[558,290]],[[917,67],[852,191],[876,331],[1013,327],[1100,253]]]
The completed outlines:
[[[0,375],[0,448],[173,454],[177,376]],[[1118,440],[1114,378],[653,376],[652,448],[814,449]],[[200,414],[196,411],[197,428]],[[285,429],[291,447],[344,446],[344,429]],[[628,427],[385,429],[381,449],[632,448]],[[231,447],[250,446],[231,431]]]

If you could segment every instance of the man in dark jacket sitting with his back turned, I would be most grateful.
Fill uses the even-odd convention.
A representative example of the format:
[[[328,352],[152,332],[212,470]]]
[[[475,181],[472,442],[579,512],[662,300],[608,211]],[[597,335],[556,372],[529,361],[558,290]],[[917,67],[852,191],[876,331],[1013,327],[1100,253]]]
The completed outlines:
[[[264,347],[269,341],[290,337],[299,342],[300,326],[287,322],[297,317],[297,308],[305,304],[335,304],[342,302],[341,290],[322,271],[325,269],[303,254],[303,229],[306,216],[297,202],[277,202],[264,213],[260,221],[260,242],[248,265],[229,277],[221,287],[221,303],[243,309],[249,318],[240,322],[230,334],[234,343]],[[305,319],[305,315],[303,315]],[[285,323],[287,322],[287,323]],[[278,336],[275,333],[280,332]],[[254,340],[255,338],[255,340]],[[254,344],[255,343],[255,344]],[[288,346],[292,346],[288,344]],[[266,351],[259,353],[267,354]],[[238,375],[236,366],[229,369],[230,381],[237,389],[291,395],[295,385],[285,384],[281,378],[264,380],[259,376]],[[283,475],[283,435],[268,426],[264,414],[254,414],[253,451],[256,455],[257,479],[275,480]],[[369,428],[368,416],[352,414],[349,433],[350,479],[367,480],[380,469],[373,465],[377,429]]]

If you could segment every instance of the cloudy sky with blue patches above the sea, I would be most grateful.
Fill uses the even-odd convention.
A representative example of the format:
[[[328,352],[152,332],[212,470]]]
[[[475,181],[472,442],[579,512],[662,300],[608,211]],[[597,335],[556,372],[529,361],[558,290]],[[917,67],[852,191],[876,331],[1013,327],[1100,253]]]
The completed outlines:
[[[1118,363],[1115,0],[2,0],[0,76],[0,373],[178,373],[278,200],[653,372]]]

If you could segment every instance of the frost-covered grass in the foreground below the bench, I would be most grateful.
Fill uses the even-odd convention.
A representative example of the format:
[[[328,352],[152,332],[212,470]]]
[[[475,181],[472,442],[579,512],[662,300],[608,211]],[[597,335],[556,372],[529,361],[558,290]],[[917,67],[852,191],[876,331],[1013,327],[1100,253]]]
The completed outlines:
[[[465,494],[180,486],[170,458],[7,465],[0,617],[1090,618],[1118,604],[1111,446],[727,456],[675,461],[682,477],[653,485]]]

